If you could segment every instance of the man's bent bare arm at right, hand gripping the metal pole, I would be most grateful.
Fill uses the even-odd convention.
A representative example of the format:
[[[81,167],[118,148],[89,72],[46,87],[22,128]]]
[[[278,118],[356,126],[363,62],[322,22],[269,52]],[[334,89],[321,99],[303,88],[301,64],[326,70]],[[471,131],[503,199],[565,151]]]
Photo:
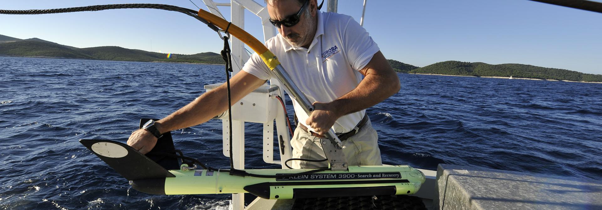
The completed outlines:
[[[318,134],[326,134],[341,116],[372,107],[400,90],[397,73],[380,51],[359,72],[364,79],[358,87],[332,102],[314,103],[315,110],[306,123]]]

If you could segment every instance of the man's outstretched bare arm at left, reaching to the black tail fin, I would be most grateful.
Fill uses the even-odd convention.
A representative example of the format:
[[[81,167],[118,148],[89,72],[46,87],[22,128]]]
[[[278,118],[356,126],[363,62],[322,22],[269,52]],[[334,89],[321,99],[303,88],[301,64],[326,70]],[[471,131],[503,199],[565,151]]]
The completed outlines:
[[[241,71],[230,79],[232,103],[237,102],[244,96],[264,84],[265,80],[259,79],[250,73]],[[158,120],[155,126],[163,134],[164,132],[188,128],[207,122],[211,118],[228,110],[227,86],[224,83],[214,90],[197,97],[175,113],[164,119]],[[157,138],[150,132],[144,130],[134,131],[128,139],[128,145],[139,150],[141,153],[150,152],[157,144]]]

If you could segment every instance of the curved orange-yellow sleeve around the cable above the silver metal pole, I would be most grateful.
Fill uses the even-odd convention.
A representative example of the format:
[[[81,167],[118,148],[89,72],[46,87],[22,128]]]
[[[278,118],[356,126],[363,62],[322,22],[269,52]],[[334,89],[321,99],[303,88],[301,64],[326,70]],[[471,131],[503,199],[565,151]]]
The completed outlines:
[[[207,22],[212,23],[223,30],[228,28],[228,24],[230,23],[228,20],[224,20],[221,17],[211,14],[205,10],[199,10],[199,17],[202,17],[203,19],[207,20]],[[263,60],[265,65],[267,65],[271,70],[280,64],[278,58],[276,58],[276,56],[274,56],[274,54],[272,54],[272,52],[270,52],[263,43],[259,42],[259,40],[255,39],[255,37],[251,36],[251,34],[248,32],[238,28],[238,26],[230,24],[228,33],[241,40],[241,42],[245,43],[247,46],[249,46],[249,48],[253,49],[253,51],[259,54],[261,60]]]

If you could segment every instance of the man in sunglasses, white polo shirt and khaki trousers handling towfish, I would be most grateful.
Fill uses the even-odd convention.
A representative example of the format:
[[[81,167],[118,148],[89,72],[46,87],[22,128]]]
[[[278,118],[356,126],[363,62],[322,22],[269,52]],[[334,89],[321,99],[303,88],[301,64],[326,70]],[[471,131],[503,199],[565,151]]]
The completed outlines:
[[[293,158],[325,159],[320,137],[333,128],[343,140],[349,165],[382,165],[378,137],[365,109],[397,93],[400,84],[376,43],[351,17],[318,11],[316,0],[266,3],[270,22],[279,32],[266,46],[308,99],[315,101],[311,116],[293,101],[299,118],[291,141]],[[243,70],[231,78],[232,101],[242,99],[272,77],[261,58],[253,54]],[[157,143],[158,134],[199,125],[227,109],[226,86],[222,85],[153,126],[135,131],[128,144],[147,153]],[[294,168],[326,165],[293,163]]]

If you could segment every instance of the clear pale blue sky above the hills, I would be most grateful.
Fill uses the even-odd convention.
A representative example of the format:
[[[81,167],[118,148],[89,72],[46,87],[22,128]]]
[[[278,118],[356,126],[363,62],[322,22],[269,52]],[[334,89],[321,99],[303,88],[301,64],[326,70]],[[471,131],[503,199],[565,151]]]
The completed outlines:
[[[206,10],[200,0],[192,0]],[[226,2],[226,1],[217,1]],[[264,5],[262,0],[259,4]],[[4,1],[0,9],[26,10],[99,4],[152,3],[196,7],[188,0]],[[362,15],[362,0],[339,1],[338,13]],[[323,11],[326,11],[324,3]],[[386,58],[427,66],[458,60],[521,63],[602,74],[602,14],[527,0],[369,0],[364,27]],[[229,8],[220,7],[226,18]],[[247,12],[245,29],[262,40],[259,18]],[[173,11],[122,9],[78,13],[0,14],[0,34],[37,37],[88,48],[121,46],[144,51],[219,52],[223,43],[198,20]]]

